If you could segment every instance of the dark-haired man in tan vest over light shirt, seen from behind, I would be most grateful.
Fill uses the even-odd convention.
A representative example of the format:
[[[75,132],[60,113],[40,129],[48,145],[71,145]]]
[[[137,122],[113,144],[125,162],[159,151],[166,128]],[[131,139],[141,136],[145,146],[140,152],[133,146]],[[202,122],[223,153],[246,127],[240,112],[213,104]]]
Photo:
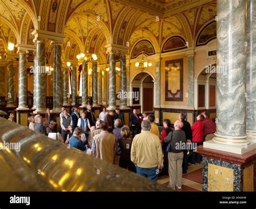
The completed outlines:
[[[116,137],[107,131],[108,125],[102,122],[99,125],[101,132],[93,137],[92,154],[97,158],[114,164],[116,157]]]

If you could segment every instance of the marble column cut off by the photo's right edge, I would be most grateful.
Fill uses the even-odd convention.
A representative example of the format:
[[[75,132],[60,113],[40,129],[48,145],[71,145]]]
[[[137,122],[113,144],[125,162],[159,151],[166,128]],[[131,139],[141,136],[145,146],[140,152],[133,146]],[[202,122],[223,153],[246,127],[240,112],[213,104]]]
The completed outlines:
[[[256,143],[256,2],[247,1],[246,133]]]

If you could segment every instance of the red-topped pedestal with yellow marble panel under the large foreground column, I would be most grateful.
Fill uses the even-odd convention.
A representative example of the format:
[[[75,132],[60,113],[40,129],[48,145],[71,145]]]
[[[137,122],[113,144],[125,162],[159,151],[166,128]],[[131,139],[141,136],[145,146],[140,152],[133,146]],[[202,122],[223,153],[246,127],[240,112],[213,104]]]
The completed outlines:
[[[234,154],[197,147],[203,156],[203,191],[256,191],[256,149]]]

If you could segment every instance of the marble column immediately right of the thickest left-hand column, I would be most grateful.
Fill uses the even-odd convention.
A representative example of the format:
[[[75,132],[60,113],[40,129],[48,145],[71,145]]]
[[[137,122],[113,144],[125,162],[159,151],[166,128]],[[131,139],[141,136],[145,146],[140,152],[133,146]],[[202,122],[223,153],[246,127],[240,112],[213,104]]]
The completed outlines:
[[[53,110],[62,110],[62,46],[53,45]]]

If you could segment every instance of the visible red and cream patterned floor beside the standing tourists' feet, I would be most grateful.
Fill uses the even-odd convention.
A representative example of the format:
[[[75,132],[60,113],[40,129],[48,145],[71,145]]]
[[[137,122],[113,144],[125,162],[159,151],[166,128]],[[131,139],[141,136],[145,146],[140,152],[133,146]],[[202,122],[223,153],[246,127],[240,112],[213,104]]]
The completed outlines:
[[[180,192],[200,192],[202,191],[202,172],[203,172],[203,162],[198,165],[190,165],[188,166],[188,170],[186,174],[182,176],[182,187],[181,190],[176,188],[176,191]],[[169,184],[169,176],[161,176],[158,181],[159,184],[163,184],[164,186],[168,186]]]

